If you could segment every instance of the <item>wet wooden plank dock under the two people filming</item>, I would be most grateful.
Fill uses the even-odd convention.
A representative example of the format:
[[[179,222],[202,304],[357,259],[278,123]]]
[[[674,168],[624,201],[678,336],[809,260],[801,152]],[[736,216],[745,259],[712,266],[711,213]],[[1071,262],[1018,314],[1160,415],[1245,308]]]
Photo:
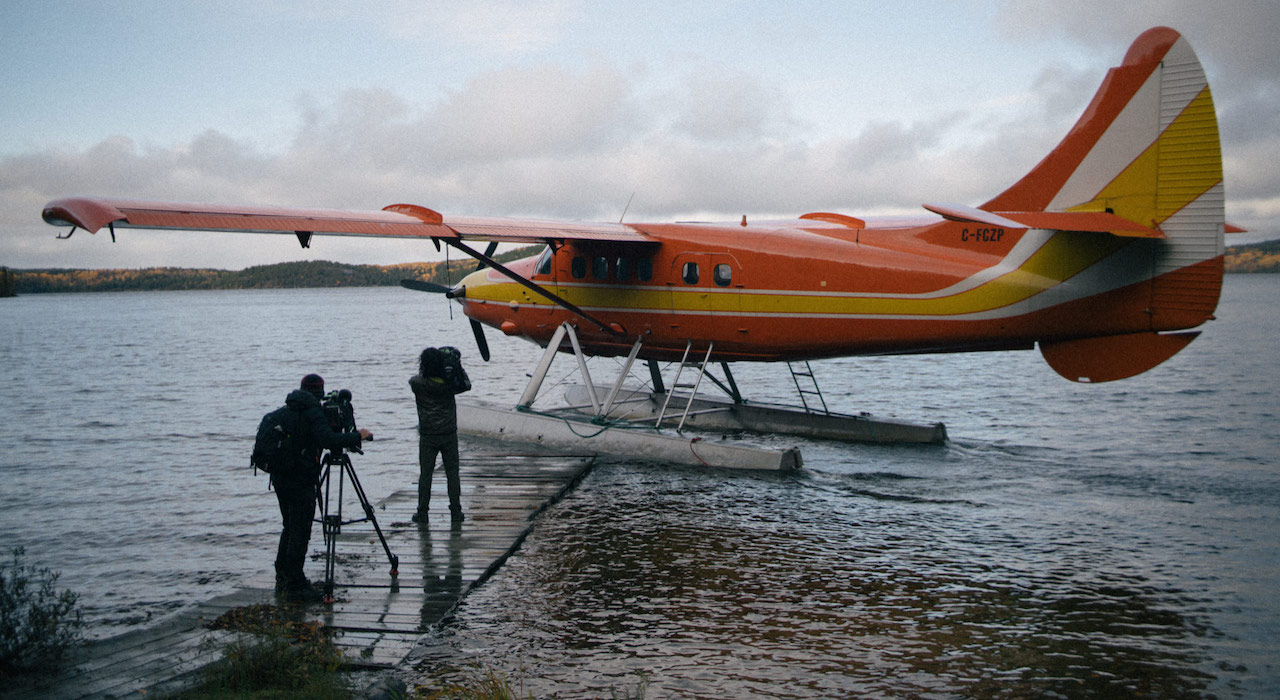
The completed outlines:
[[[590,457],[477,454],[462,459],[466,522],[449,522],[442,476],[431,490],[426,527],[410,518],[416,486],[375,504],[378,523],[399,558],[392,577],[387,554],[369,522],[344,526],[338,537],[337,601],[300,609],[301,621],[335,630],[335,644],[352,667],[390,668],[417,639],[444,619],[466,594],[497,571],[532,530],[534,517],[586,475]],[[439,470],[436,470],[439,471]],[[362,514],[355,497],[343,505],[347,520]],[[323,572],[320,526],[312,531],[315,581]],[[179,690],[221,655],[236,632],[207,624],[233,608],[274,603],[274,572],[264,572],[230,595],[210,600],[157,626],[87,645],[60,674],[27,680],[5,697],[119,697]],[[12,695],[10,695],[12,694]]]

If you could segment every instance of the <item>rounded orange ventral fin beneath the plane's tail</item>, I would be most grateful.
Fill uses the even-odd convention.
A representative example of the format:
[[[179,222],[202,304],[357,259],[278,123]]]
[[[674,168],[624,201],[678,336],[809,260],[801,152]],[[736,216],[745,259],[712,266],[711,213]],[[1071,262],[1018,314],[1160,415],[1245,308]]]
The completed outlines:
[[[1130,333],[1078,340],[1041,343],[1041,354],[1053,371],[1071,381],[1098,383],[1142,374],[1196,339],[1192,333]]]

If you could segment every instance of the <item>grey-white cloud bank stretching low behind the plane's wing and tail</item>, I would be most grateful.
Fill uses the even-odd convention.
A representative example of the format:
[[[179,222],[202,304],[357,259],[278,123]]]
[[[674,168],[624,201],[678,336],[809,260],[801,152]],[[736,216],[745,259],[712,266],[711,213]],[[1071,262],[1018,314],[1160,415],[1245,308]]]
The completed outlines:
[[[1023,41],[1064,41],[1061,33],[1050,36],[1051,27],[1066,35],[1088,29],[1075,14],[1015,14],[1005,31],[1020,32]],[[1123,35],[1117,41],[1128,46],[1137,35],[1128,26],[1137,22],[1123,14],[1106,33]],[[1089,44],[1097,42],[1094,36]],[[1216,51],[1197,49],[1202,56]],[[1105,56],[1105,64],[1121,55]],[[667,82],[644,67],[531,63],[474,74],[419,102],[376,87],[325,100],[302,95],[293,104],[292,136],[270,147],[209,129],[168,146],[116,136],[82,150],[0,159],[0,262],[244,266],[301,257],[433,257],[422,246],[380,241],[324,239],[303,252],[288,237],[192,243],[192,234],[160,233],[131,234],[129,247],[110,252],[93,243],[88,252],[82,243],[51,243],[52,229],[38,221],[46,201],[70,195],[342,209],[403,201],[449,215],[617,220],[635,193],[632,221],[980,203],[1052,148],[1101,77],[1096,67],[1064,56],[1020,92],[931,115],[878,118],[847,133],[812,129],[778,78],[705,60],[663,77]],[[1280,97],[1274,78],[1256,79],[1257,91],[1242,95],[1228,82],[1221,91],[1215,84],[1215,95],[1229,216],[1258,230],[1277,210]]]

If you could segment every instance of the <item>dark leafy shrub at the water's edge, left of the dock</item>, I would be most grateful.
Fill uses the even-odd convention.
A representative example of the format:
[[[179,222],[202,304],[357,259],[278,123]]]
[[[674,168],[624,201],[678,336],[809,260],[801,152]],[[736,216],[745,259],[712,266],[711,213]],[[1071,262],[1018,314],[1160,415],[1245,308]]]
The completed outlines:
[[[0,568],[0,678],[51,671],[81,641],[84,622],[70,590],[56,593],[58,572],[22,563],[26,549]]]

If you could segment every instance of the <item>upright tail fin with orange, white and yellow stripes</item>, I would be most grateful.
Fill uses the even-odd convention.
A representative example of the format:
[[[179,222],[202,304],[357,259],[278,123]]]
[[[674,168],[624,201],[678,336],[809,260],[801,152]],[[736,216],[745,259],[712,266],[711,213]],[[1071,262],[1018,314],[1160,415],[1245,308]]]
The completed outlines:
[[[1130,256],[1133,282],[1151,282],[1151,331],[1210,320],[1222,288],[1222,154],[1208,81],[1187,40],[1167,27],[1139,36],[1062,142],[980,209],[1102,212],[1158,232]],[[1161,347],[1172,354],[1184,344]]]

